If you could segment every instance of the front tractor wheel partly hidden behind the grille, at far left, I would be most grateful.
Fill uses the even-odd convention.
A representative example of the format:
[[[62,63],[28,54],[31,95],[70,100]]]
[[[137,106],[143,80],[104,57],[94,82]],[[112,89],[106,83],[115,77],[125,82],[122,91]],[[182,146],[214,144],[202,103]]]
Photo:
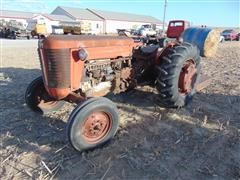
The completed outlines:
[[[25,93],[25,102],[32,111],[39,114],[57,111],[65,104],[64,101],[53,100],[48,95],[41,76],[29,84]]]

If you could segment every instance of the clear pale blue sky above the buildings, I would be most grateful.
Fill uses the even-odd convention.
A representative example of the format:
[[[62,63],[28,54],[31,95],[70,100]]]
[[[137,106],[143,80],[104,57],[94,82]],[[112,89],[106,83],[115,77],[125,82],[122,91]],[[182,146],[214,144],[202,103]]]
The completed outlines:
[[[1,9],[51,13],[57,6],[93,8],[163,19],[164,0],[0,0]],[[240,0],[168,0],[166,20],[193,25],[239,27]]]

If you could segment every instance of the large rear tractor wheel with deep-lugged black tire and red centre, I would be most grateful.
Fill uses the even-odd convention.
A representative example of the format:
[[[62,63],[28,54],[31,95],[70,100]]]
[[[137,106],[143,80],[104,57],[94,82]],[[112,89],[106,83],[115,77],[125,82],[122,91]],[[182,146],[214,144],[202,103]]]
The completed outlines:
[[[185,106],[192,99],[199,80],[199,50],[189,43],[176,45],[168,50],[156,70],[160,105],[171,108]]]

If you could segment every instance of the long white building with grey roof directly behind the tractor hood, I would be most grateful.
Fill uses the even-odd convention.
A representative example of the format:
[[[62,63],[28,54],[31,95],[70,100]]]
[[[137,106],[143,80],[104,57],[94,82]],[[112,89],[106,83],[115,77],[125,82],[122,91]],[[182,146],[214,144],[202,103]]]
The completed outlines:
[[[96,34],[117,33],[117,29],[137,29],[143,24],[162,26],[162,22],[152,16],[95,9],[59,6],[51,14],[66,15],[77,21],[89,23]]]

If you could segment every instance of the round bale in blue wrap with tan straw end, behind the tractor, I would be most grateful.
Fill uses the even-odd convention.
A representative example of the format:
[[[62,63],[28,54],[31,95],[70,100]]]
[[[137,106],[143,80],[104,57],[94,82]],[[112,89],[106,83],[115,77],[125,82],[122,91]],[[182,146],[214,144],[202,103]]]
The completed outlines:
[[[213,57],[216,54],[220,33],[209,28],[188,28],[182,34],[183,41],[194,44],[203,57]]]

